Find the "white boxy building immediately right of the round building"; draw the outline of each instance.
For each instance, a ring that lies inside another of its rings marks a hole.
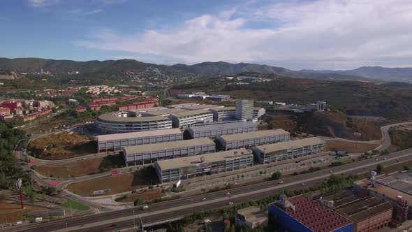
[[[189,110],[171,113],[169,118],[172,120],[172,126],[179,129],[184,129],[198,123],[213,122],[213,114],[208,110]]]

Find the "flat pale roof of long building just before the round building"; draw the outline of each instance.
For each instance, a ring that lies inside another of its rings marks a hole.
[[[128,138],[143,138],[151,136],[164,136],[174,133],[182,133],[177,128],[174,129],[164,129],[164,130],[154,130],[154,131],[141,131],[141,132],[130,132],[130,133],[113,133],[110,135],[101,135],[97,136],[97,140],[100,141],[110,141],[110,140],[119,140],[119,139],[128,139]]]

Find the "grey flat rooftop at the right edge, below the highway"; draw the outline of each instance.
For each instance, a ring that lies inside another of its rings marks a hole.
[[[375,180],[378,183],[391,187],[392,189],[397,189],[406,194],[412,195],[412,171],[379,175],[375,178]]]

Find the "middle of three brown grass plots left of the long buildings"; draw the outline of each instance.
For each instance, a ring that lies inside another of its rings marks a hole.
[[[68,162],[64,164],[47,164],[35,166],[35,170],[41,175],[70,178],[101,173],[110,168],[124,166],[123,157],[120,155],[108,157],[87,158],[78,161]]]

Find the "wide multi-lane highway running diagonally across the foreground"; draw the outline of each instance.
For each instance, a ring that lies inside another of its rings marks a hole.
[[[383,160],[384,157],[386,160]],[[399,159],[400,162],[412,159],[412,150],[404,150],[403,152],[394,152],[386,156],[381,156],[378,157],[378,161],[376,161],[375,158],[365,159],[351,164],[327,168],[314,173],[287,177],[281,179],[284,181],[283,184],[279,184],[279,180],[276,180],[230,189],[230,196],[226,196],[225,191],[219,191],[211,194],[203,194],[201,196],[192,196],[152,204],[149,205],[149,209],[147,210],[140,210],[139,208],[118,210],[92,215],[89,217],[60,220],[38,225],[32,224],[30,226],[19,226],[13,229],[8,228],[8,231],[66,231],[66,224],[68,228],[67,231],[101,232],[119,230],[133,226],[133,211],[135,214],[136,223],[138,222],[138,215],[142,217],[143,224],[162,222],[164,220],[190,215],[192,212],[196,211],[221,208],[228,205],[229,201],[235,204],[242,203],[249,200],[263,198],[265,196],[270,196],[272,194],[277,194],[283,189],[300,189],[302,188],[302,182],[305,183],[305,187],[309,187],[313,184],[323,182],[325,178],[329,177],[331,170],[332,173],[339,176],[365,173],[374,170],[377,164],[383,164],[384,166],[397,164],[399,163],[397,159]],[[203,197],[205,197],[206,200],[203,201]],[[110,225],[113,223],[117,225],[111,227]]]

